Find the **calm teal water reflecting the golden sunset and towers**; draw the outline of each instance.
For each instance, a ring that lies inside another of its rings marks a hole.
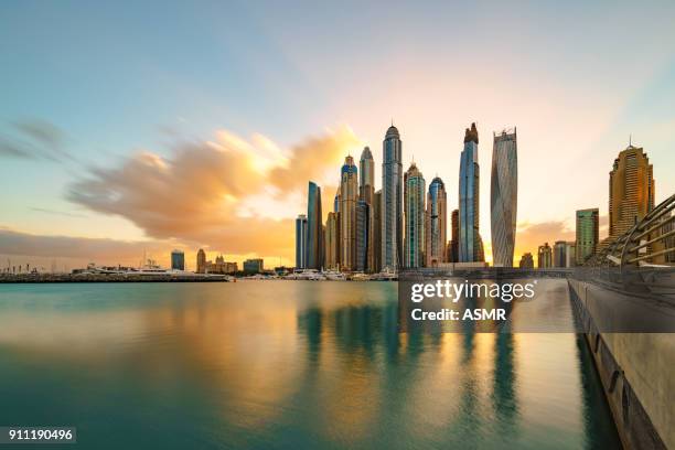
[[[0,286],[0,426],[76,426],[81,449],[620,447],[581,338],[396,323],[392,282]]]

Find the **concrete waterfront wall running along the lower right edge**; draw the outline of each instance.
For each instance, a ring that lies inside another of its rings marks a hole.
[[[675,449],[675,334],[600,332],[608,317],[630,319],[617,314],[635,298],[590,281],[568,282],[623,446]]]

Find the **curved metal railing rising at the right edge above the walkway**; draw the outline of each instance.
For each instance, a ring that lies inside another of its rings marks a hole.
[[[675,194],[589,258],[587,267],[674,267]]]

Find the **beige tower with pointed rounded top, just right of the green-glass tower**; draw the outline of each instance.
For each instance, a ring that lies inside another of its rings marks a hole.
[[[446,184],[436,176],[429,184],[425,213],[425,265],[437,267],[446,262],[448,234],[448,195]]]

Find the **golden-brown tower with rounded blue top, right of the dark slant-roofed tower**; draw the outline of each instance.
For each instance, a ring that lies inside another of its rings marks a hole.
[[[356,268],[356,202],[358,170],[354,158],[346,157],[340,172],[340,265],[343,270]]]

